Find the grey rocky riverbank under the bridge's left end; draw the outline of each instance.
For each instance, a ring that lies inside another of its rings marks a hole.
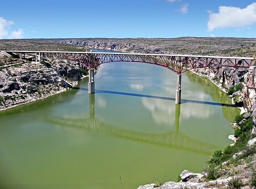
[[[18,67],[0,71],[0,111],[64,92],[77,85],[86,73],[72,61],[23,60]]]

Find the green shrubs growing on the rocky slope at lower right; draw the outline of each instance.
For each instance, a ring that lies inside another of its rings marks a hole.
[[[244,113],[243,113],[244,114]],[[243,114],[235,116],[235,122],[240,122],[243,119]],[[256,153],[256,146],[247,147],[248,140],[255,137],[251,136],[251,130],[253,128],[252,118],[249,117],[240,123],[239,127],[235,129],[235,137],[237,137],[234,146],[227,146],[224,151],[217,150],[207,161],[209,166],[204,168],[206,172],[205,178],[207,180],[215,180],[221,176],[225,176],[228,172],[228,176],[234,176],[240,174],[241,170],[225,171],[223,166],[235,167],[240,164],[244,164],[245,161],[250,163],[252,161],[252,155]],[[241,153],[242,152],[242,153]],[[237,154],[234,156],[234,154]],[[223,165],[223,162],[227,162]],[[252,168],[253,169],[253,168]],[[256,171],[253,169],[251,177],[251,185],[256,185]],[[243,186],[242,181],[239,178],[232,178],[228,182],[230,188],[240,188]]]

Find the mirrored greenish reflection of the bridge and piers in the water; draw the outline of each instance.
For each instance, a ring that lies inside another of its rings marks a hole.
[[[131,140],[136,142],[143,142],[147,144],[179,149],[199,154],[211,155],[213,151],[219,149],[218,146],[206,144],[196,139],[192,139],[182,133],[179,133],[180,124],[180,110],[181,105],[176,106],[176,130],[174,132],[152,134],[137,131],[130,131],[113,127],[112,125],[105,124],[100,119],[95,117],[95,94],[89,95],[90,97],[90,117],[88,118],[64,118],[64,117],[49,117],[48,121],[64,127],[71,127],[77,129],[84,129],[115,138]]]

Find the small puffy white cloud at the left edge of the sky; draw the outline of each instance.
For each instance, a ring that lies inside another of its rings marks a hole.
[[[13,21],[8,21],[4,19],[3,17],[0,17],[0,39],[3,38],[22,38],[23,37],[23,30],[18,29],[11,32],[9,35],[8,29],[11,25],[13,25]]]

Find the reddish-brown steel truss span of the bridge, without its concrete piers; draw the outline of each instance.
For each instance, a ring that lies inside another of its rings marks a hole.
[[[220,57],[220,56],[186,56],[161,54],[130,53],[63,53],[42,52],[41,58],[61,58],[80,62],[88,68],[96,68],[101,64],[116,61],[144,62],[165,67],[177,74],[196,68],[233,67],[248,68],[252,66],[252,58]]]

